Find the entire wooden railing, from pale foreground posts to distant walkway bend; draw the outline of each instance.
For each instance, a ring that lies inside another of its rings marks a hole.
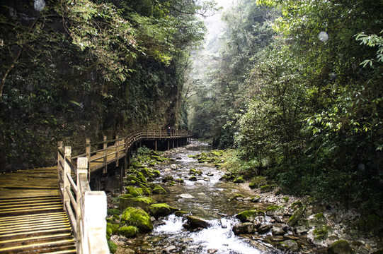
[[[60,141],[57,152],[58,185],[62,193],[64,210],[76,238],[77,253],[109,253],[106,234],[106,195],[103,191],[91,191],[88,181],[91,172],[103,168],[108,170],[108,164],[126,157],[128,151],[140,140],[161,140],[190,138],[187,131],[146,130],[135,131],[126,138],[118,138],[86,143],[81,149],[85,152],[72,157],[72,147],[65,146]],[[102,147],[102,148],[101,148]],[[75,180],[74,180],[75,179]]]

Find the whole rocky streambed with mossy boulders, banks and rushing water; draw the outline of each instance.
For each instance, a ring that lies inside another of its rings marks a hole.
[[[219,169],[219,151],[205,144],[164,152],[168,159],[152,157],[156,162],[132,165],[126,193],[109,193],[115,253],[382,251],[377,215],[283,195],[273,185],[250,188]]]

